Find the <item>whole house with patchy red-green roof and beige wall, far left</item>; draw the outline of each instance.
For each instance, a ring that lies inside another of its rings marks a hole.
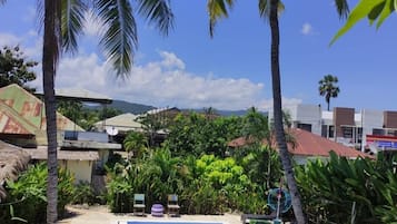
[[[79,91],[81,92],[81,91]],[[79,100],[77,91],[62,91],[57,98]],[[97,95],[96,95],[97,96]],[[83,91],[83,99],[89,100]],[[92,101],[101,100],[99,97]],[[106,101],[110,99],[106,98]],[[111,100],[110,100],[111,101]],[[22,147],[33,160],[47,160],[44,104],[18,85],[0,88],[0,139]],[[75,174],[76,182],[91,183],[98,168],[103,167],[110,150],[121,145],[108,142],[106,133],[85,132],[69,118],[57,113],[58,163]]]

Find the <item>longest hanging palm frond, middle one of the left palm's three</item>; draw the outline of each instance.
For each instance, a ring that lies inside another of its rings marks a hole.
[[[117,77],[125,78],[131,70],[133,52],[138,47],[131,4],[128,0],[97,0],[95,12],[107,29],[99,43],[112,62]]]

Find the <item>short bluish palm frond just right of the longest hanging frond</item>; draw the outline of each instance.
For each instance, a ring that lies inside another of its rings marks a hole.
[[[169,0],[139,0],[138,12],[155,23],[161,33],[168,35],[173,27],[173,13]]]

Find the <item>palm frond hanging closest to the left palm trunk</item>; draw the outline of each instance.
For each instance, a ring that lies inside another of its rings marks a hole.
[[[62,0],[61,31],[63,51],[75,53],[77,38],[82,32],[85,12],[88,7],[83,0]]]

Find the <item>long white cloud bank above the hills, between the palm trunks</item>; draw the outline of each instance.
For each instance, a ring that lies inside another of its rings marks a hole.
[[[264,85],[248,79],[201,77],[185,70],[183,61],[161,51],[161,60],[136,66],[128,79],[115,80],[108,65],[91,53],[61,60],[56,88],[85,88],[113,99],[180,108],[259,107]]]

